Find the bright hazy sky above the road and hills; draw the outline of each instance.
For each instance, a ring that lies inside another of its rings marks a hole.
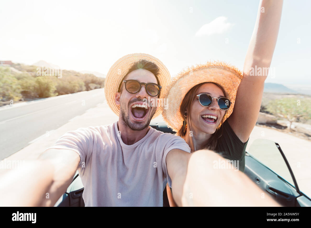
[[[243,70],[259,0],[2,1],[0,60],[44,60],[107,74],[130,53],[160,59],[172,76],[208,60]],[[285,0],[266,82],[311,88],[311,1]]]

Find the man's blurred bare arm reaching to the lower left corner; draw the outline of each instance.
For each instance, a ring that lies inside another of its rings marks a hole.
[[[0,206],[54,206],[75,174],[80,156],[72,150],[49,149],[38,159],[0,175]],[[21,192],[22,190],[22,192]]]

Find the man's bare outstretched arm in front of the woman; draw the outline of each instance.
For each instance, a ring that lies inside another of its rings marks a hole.
[[[178,206],[280,206],[244,173],[214,169],[214,161],[225,160],[213,151],[192,154],[174,149],[166,156],[172,194]]]

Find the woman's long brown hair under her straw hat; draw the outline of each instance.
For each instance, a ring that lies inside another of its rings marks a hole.
[[[189,130],[193,129],[191,126],[191,122],[190,122],[190,110],[191,110],[193,99],[197,95],[197,91],[199,90],[199,87],[203,84],[206,84],[206,83],[213,83],[213,84],[217,85],[222,90],[225,97],[228,97],[228,95],[226,94],[226,92],[222,88],[222,86],[218,85],[217,83],[214,83],[214,82],[203,82],[203,83],[200,83],[198,85],[193,86],[191,88],[191,90],[189,90],[188,93],[185,95],[185,97],[183,98],[183,101],[180,105],[180,114],[183,117],[183,120],[186,121],[187,128],[189,128]],[[185,115],[185,112],[187,113],[187,116]],[[225,114],[226,114],[226,112],[225,112]],[[221,120],[220,128],[219,129],[217,128],[215,133],[212,134],[212,136],[207,140],[207,142],[203,145],[203,147],[198,148],[198,150],[201,150],[201,149],[215,150],[216,149],[217,140],[218,140],[218,138],[220,138],[220,136],[223,133],[223,128],[222,128],[223,120],[224,120],[224,118],[222,118],[222,120]],[[187,131],[183,132],[183,126],[182,126],[181,129],[179,129],[179,131],[176,133],[176,135],[178,135],[182,138],[185,138],[186,133],[187,133]]]

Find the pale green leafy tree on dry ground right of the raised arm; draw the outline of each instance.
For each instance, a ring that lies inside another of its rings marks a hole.
[[[291,130],[292,122],[303,122],[311,119],[311,99],[282,98],[272,100],[267,104],[267,111],[275,116],[286,118]]]

